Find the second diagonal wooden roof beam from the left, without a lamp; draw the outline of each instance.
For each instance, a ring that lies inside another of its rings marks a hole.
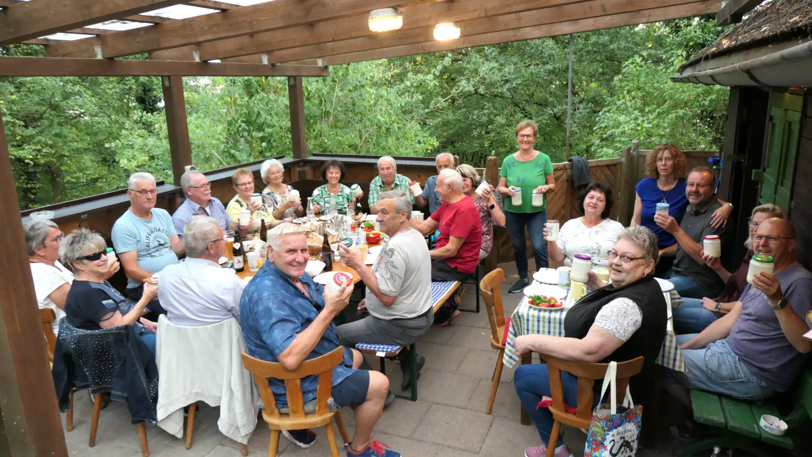
[[[143,1],[143,0],[142,0]],[[350,15],[366,15],[383,7],[436,2],[438,0],[275,0],[251,7],[234,8],[210,15],[175,20],[155,27],[136,28],[88,40],[49,46],[51,57],[96,57],[94,46],[102,46],[105,58],[187,46],[227,37],[240,37],[276,28],[312,24]]]

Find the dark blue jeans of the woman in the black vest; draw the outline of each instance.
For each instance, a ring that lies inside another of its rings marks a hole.
[[[578,404],[578,378],[568,372],[561,372],[561,384],[564,385],[564,404],[576,406]],[[542,401],[542,396],[551,397],[550,375],[547,372],[546,363],[520,365],[513,373],[513,385],[516,387],[516,394],[519,394],[521,406],[525,408],[533,425],[538,429],[542,442],[548,445],[553,429],[553,415],[547,408],[536,409],[538,402]],[[595,397],[593,407],[598,404],[597,395]],[[564,444],[564,439],[559,435],[555,447],[562,444]]]

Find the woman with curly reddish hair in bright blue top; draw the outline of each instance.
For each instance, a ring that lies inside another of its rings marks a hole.
[[[654,276],[667,278],[668,271],[674,261],[673,256],[663,256],[663,250],[676,244],[671,233],[665,231],[654,222],[654,212],[657,203],[668,203],[668,215],[682,221],[685,208],[688,207],[688,198],[685,196],[685,170],[686,160],[682,151],[672,143],[663,143],[654,147],[651,154],[646,157],[646,178],[643,178],[635,189],[634,215],[632,225],[642,225],[650,228],[657,235],[657,244],[660,249],[660,258],[654,269]],[[722,203],[711,219],[711,226],[724,227],[728,223],[728,215],[733,210],[730,203]]]

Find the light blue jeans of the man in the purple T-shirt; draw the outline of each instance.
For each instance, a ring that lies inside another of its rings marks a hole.
[[[677,335],[680,345],[696,334]],[[669,370],[664,382],[675,381],[688,389],[701,389],[743,400],[760,400],[775,395],[775,390],[749,371],[728,346],[728,340],[712,342],[702,349],[682,351],[687,372]]]

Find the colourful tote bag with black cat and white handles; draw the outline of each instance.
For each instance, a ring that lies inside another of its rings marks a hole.
[[[610,403],[599,403],[592,413],[584,457],[633,457],[637,454],[643,407],[634,405],[627,385],[623,404],[618,408],[616,377],[617,362],[610,362],[601,389],[603,402],[603,395],[611,384]]]

